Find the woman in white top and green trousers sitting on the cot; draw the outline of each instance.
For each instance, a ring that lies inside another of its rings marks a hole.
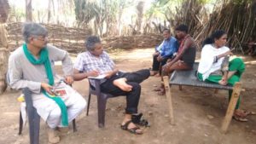
[[[213,32],[212,36],[205,40],[197,73],[201,81],[232,86],[240,81],[241,74],[245,71],[245,64],[240,58],[229,61],[232,52],[225,46],[226,42],[227,34],[224,31]],[[232,92],[233,90],[229,91],[229,99]],[[239,97],[233,118],[247,121],[246,117],[251,113],[239,109],[240,101]]]

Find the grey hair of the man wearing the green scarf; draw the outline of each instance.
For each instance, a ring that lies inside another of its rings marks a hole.
[[[22,36],[26,43],[29,43],[28,38],[32,36],[44,36],[48,35],[48,31],[44,26],[39,25],[38,23],[29,22],[23,24]]]

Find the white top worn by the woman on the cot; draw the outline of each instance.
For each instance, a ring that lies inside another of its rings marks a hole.
[[[201,60],[198,66],[198,72],[202,74],[203,80],[207,79],[212,72],[215,72],[221,68],[224,57],[213,63],[214,57],[224,54],[229,50],[230,49],[226,46],[217,49],[213,47],[212,44],[206,44],[203,47],[201,50]]]

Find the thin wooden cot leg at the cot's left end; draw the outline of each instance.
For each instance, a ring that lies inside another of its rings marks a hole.
[[[166,89],[166,99],[168,102],[168,107],[169,107],[169,113],[170,113],[170,120],[171,120],[171,124],[174,124],[174,118],[173,118],[173,108],[172,108],[172,93],[171,93],[171,89],[170,89],[170,85],[169,85],[169,77],[168,76],[164,76],[164,85],[165,85],[165,89]]]

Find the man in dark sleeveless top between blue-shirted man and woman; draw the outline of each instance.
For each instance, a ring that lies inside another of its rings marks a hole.
[[[188,26],[177,26],[176,34],[180,40],[180,46],[177,50],[177,56],[163,66],[162,76],[170,75],[174,70],[191,70],[195,62],[196,45],[195,41],[188,34]],[[161,84],[159,95],[165,95],[164,84]]]

